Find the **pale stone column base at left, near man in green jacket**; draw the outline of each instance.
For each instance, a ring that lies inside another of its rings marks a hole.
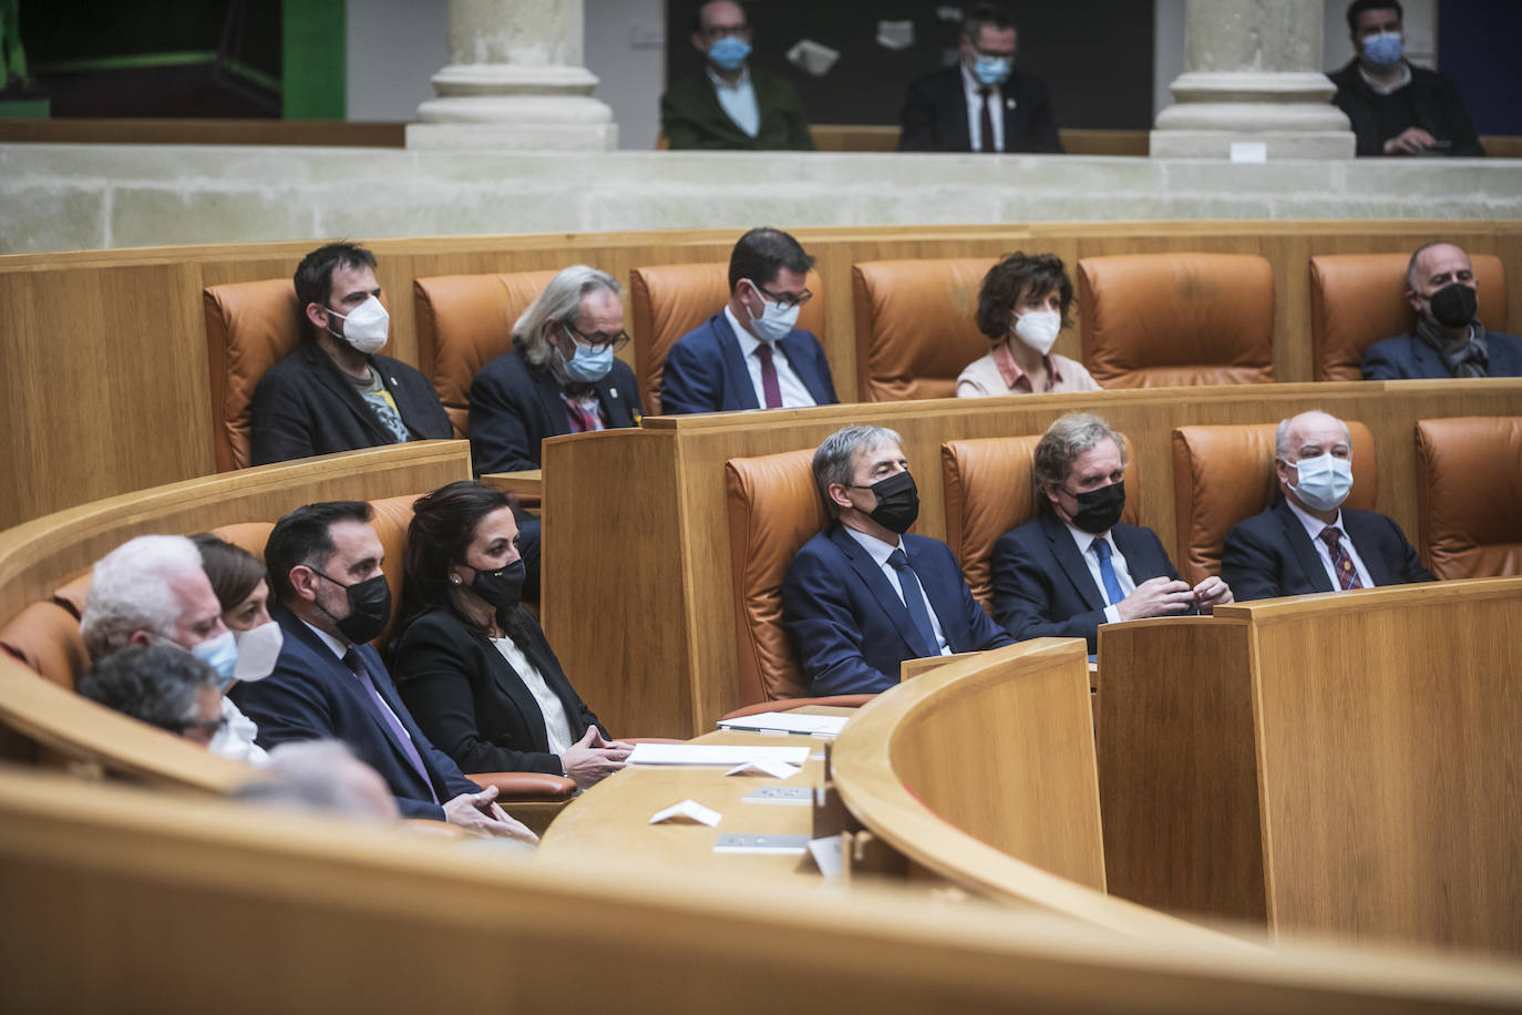
[[[581,0],[449,0],[449,65],[408,148],[610,151],[613,111],[581,65]]]

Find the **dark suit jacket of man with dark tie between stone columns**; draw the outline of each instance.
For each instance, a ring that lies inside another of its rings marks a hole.
[[[1056,114],[1052,111],[1046,82],[1017,70],[1011,72],[1000,91],[1005,96],[1005,151],[1062,154],[1062,138],[1056,132]],[[898,122],[901,152],[973,151],[962,64],[910,82]]]

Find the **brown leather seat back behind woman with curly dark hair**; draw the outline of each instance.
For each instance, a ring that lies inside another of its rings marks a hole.
[[[857,388],[863,402],[950,399],[989,350],[977,291],[992,257],[869,260],[851,268]]]

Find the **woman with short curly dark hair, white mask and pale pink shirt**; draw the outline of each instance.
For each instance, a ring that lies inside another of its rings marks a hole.
[[[956,379],[957,397],[1099,391],[1084,364],[1052,352],[1071,306],[1073,280],[1056,254],[1017,251],[989,268],[977,294],[977,330],[994,348]]]

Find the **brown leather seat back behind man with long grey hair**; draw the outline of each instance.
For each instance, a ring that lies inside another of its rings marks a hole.
[[[434,382],[455,437],[470,437],[470,382],[513,348],[513,324],[554,277],[521,271],[412,280],[419,368]]]

